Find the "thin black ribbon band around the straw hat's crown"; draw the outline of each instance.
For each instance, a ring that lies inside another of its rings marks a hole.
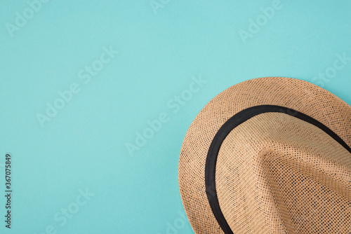
[[[244,109],[243,111],[239,111],[232,118],[230,118],[227,122],[225,122],[220,130],[216,133],[213,141],[211,142],[211,146],[208,149],[206,165],[205,165],[205,185],[206,185],[206,195],[208,202],[211,206],[212,212],[218,221],[218,224],[222,228],[225,234],[233,234],[230,226],[228,225],[225,217],[223,216],[222,211],[220,210],[220,205],[218,202],[217,191],[216,191],[216,162],[218,157],[218,152],[220,150],[220,146],[222,145],[225,137],[238,125],[244,123],[249,120],[253,116],[257,116],[260,113],[267,112],[279,112],[286,113],[290,116],[300,118],[300,120],[306,121],[307,123],[311,123],[312,125],[320,128],[324,132],[326,132],[329,136],[333,137],[339,144],[341,144],[347,151],[351,153],[350,146],[348,146],[343,139],[341,139],[335,132],[330,130],[326,125],[320,123],[314,118],[307,116],[305,113],[301,113],[299,111],[295,111],[293,109],[286,108],[284,106],[274,106],[274,105],[260,105],[260,106],[252,106],[248,109]]]

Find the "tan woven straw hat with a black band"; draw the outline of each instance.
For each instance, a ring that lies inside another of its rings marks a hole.
[[[190,125],[179,187],[195,233],[351,233],[351,107],[293,78],[244,81]]]

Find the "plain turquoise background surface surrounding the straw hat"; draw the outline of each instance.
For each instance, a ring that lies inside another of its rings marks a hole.
[[[246,43],[239,30],[249,32],[273,1],[155,2],[51,0],[30,15],[27,1],[0,1],[0,233],[193,233],[182,216],[178,159],[187,128],[215,95],[247,79],[287,76],[351,104],[350,59],[332,69],[338,55],[351,57],[351,1],[282,0]],[[23,11],[29,19],[18,27]],[[119,53],[84,83],[81,69],[110,46]],[[206,83],[170,108],[194,77]],[[72,83],[79,92],[42,127],[37,114]],[[129,153],[126,144],[160,113],[166,123]],[[86,188],[94,195],[77,211]],[[74,214],[63,224],[67,208]]]

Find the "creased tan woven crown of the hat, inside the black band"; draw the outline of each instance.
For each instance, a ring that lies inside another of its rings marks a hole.
[[[233,233],[345,233],[351,153],[311,123],[261,113],[225,137],[216,193]]]

